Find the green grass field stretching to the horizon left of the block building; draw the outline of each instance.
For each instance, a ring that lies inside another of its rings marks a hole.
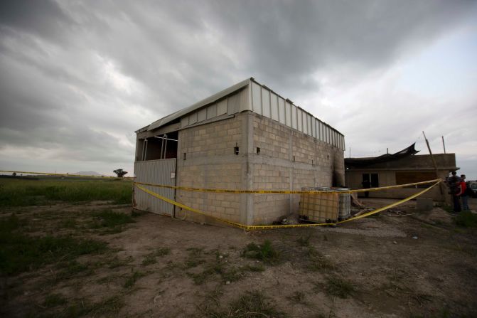
[[[132,181],[45,181],[0,179],[0,206],[38,206],[64,201],[132,202]]]

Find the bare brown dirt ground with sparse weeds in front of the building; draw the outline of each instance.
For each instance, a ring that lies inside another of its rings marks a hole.
[[[94,211],[131,208],[4,208],[1,217],[30,221],[30,235],[93,238],[109,250],[80,256],[82,270],[68,275],[56,264],[4,275],[0,316],[477,317],[476,228],[456,226],[441,208],[414,206],[336,228],[259,232],[145,213],[109,233],[83,225]],[[271,258],[243,253],[266,240]]]

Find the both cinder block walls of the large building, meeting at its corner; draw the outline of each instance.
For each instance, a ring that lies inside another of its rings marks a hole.
[[[336,185],[344,184],[341,149],[254,112],[183,129],[178,140],[178,186],[297,190],[332,186],[333,176]],[[176,198],[210,216],[247,225],[269,224],[299,208],[299,195],[293,194],[177,191]],[[176,208],[176,216],[183,213]],[[188,218],[211,221],[193,213]]]

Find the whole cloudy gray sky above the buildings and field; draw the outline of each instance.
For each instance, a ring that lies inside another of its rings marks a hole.
[[[0,1],[0,169],[132,175],[134,131],[253,77],[352,157],[477,179],[477,1]]]

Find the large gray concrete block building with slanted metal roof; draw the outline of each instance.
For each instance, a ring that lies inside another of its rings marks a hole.
[[[134,175],[137,182],[201,189],[341,186],[344,149],[338,130],[249,78],[137,130]],[[299,208],[296,194],[146,188],[245,225],[270,224]],[[134,208],[178,218],[188,213],[137,187]]]

